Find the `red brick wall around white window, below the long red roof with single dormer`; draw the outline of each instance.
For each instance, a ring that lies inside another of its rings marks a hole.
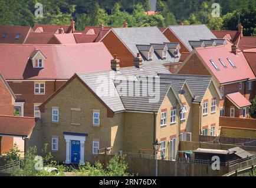
[[[9,86],[17,95],[17,99],[25,99],[24,103],[24,116],[34,117],[34,103],[42,103],[46,100],[52,93],[55,92],[61,85],[65,83],[64,81],[49,81],[45,82],[45,95],[35,95],[34,94],[34,82],[22,82],[14,83],[8,82]]]

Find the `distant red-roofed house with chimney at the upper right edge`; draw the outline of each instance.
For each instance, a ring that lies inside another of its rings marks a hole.
[[[240,50],[256,48],[256,36],[244,36],[242,30],[243,26],[239,24],[237,31],[212,31],[212,33],[218,39],[226,39],[237,45]]]

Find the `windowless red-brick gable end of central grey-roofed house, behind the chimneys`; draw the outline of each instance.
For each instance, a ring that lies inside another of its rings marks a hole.
[[[120,59],[120,67],[134,66],[133,54],[112,31],[110,31],[105,36],[102,42],[107,47],[112,56],[116,54],[117,59]]]

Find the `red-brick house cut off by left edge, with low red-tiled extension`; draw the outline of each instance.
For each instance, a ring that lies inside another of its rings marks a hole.
[[[0,73],[0,155],[14,146],[14,137],[29,137],[35,119],[15,117],[15,95]]]

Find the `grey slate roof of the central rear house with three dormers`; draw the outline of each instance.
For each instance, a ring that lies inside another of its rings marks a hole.
[[[138,49],[136,45],[150,45],[150,43],[166,43],[169,40],[156,27],[133,27],[133,28],[112,28],[118,38],[127,46],[127,48],[136,56]],[[145,56],[140,54],[144,62],[147,62]],[[179,62],[179,58],[174,58],[169,51],[166,53],[166,59],[160,58],[157,53],[152,54],[152,61],[160,63]]]

